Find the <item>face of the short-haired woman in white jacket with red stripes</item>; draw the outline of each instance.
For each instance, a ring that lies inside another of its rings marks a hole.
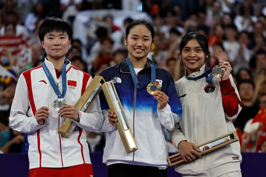
[[[68,34],[52,31],[44,35],[44,40],[41,41],[43,48],[46,51],[48,60],[60,60],[65,58],[70,47],[70,42]]]

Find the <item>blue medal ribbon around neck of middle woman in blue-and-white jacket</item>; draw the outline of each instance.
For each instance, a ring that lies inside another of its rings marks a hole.
[[[152,63],[150,63],[149,60],[147,60],[147,62],[150,64],[150,67],[151,67],[151,80],[150,80],[150,82],[155,82],[156,81],[155,66]],[[128,69],[129,69],[129,72],[130,72],[131,77],[133,79],[134,85],[138,89],[140,89],[139,82],[138,82],[134,67],[133,67],[133,65],[132,65],[132,63],[131,63],[131,61],[129,60],[128,57],[126,58],[126,64],[128,65]]]

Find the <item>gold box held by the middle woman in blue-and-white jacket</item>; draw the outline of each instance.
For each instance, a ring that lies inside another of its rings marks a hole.
[[[116,127],[123,142],[126,153],[132,153],[138,149],[132,135],[124,110],[119,100],[113,81],[105,82],[102,85],[103,93],[106,97],[109,108],[116,114]]]

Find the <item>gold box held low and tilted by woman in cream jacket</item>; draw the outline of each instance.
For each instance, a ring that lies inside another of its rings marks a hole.
[[[239,137],[236,132],[227,133],[223,136],[220,136],[218,138],[215,138],[213,140],[207,141],[205,143],[202,143],[198,145],[198,148],[201,150],[200,154],[206,154],[211,151],[214,151],[216,149],[222,148],[228,144],[231,144],[233,142],[239,141]],[[167,161],[170,166],[178,165],[180,163],[184,162],[184,159],[180,155],[180,153],[177,153],[175,155],[172,155],[167,158]]]

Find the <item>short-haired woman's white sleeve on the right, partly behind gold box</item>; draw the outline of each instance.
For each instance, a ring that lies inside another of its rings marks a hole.
[[[88,87],[91,81],[92,77],[89,78],[86,88]],[[80,122],[76,122],[72,119],[72,122],[74,122],[74,124],[76,124],[78,127],[89,132],[101,130],[103,126],[103,114],[101,113],[100,99],[98,95],[91,103],[91,106],[88,109],[88,111],[87,112],[79,111],[79,114],[80,114]]]

